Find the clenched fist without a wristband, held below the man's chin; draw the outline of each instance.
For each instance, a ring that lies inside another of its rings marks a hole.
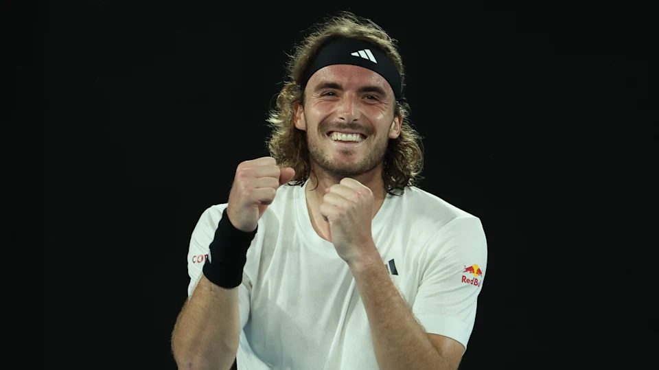
[[[358,259],[373,245],[373,192],[353,178],[344,178],[326,190],[321,214],[329,222],[329,235],[345,262]]]

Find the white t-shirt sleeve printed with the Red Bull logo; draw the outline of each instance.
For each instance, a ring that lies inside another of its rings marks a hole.
[[[428,244],[412,310],[431,334],[448,336],[465,349],[476,321],[476,303],[487,268],[481,220],[456,218]]]

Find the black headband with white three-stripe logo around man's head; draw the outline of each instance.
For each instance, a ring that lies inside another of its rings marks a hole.
[[[357,38],[337,38],[321,47],[302,80],[302,89],[311,76],[328,65],[357,65],[371,69],[389,82],[396,100],[402,95],[402,82],[396,65],[380,47]]]

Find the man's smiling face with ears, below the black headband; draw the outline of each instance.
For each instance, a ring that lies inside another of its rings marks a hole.
[[[353,177],[378,167],[400,135],[395,95],[378,73],[354,65],[320,69],[296,105],[295,127],[307,132],[310,159],[329,175]]]

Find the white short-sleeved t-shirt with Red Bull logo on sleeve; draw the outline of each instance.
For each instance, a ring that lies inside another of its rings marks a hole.
[[[259,220],[238,287],[238,369],[378,369],[355,279],[334,245],[314,231],[305,201],[303,187],[283,185]],[[206,209],[192,232],[189,296],[225,207]],[[402,196],[387,194],[372,233],[421,326],[466,348],[487,268],[481,220],[406,187]]]

